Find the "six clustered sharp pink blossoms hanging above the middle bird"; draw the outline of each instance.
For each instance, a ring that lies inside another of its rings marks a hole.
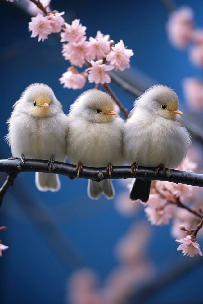
[[[63,87],[81,89],[84,87],[86,78],[90,83],[110,83],[109,71],[121,70],[130,67],[130,57],[133,51],[125,47],[123,40],[114,44],[109,35],[97,31],[95,38],[90,37],[87,41],[86,27],[79,19],[72,21],[71,25],[64,24],[61,32],[62,54],[65,60],[72,65],[59,79]],[[79,73],[76,67],[88,68]]]

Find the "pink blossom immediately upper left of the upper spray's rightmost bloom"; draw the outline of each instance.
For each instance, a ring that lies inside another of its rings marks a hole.
[[[100,31],[97,32],[95,38],[89,38],[89,56],[91,59],[102,59],[106,57],[106,53],[110,50],[109,35],[103,35]]]

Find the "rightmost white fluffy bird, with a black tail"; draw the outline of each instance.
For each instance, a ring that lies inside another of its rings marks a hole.
[[[186,157],[191,145],[178,110],[178,96],[169,87],[155,85],[135,102],[124,125],[124,160],[136,167],[176,168]],[[132,200],[147,202],[151,181],[136,179],[130,193]]]

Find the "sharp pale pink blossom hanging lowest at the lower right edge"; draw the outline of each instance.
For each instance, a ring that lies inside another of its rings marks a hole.
[[[194,257],[195,255],[202,256],[202,252],[200,250],[200,245],[197,243],[197,241],[194,241],[191,237],[191,235],[187,235],[186,238],[183,239],[176,239],[175,240],[178,243],[182,243],[178,246],[177,250],[182,250],[183,255]]]

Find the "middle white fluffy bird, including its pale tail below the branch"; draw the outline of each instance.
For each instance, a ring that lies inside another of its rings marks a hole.
[[[83,92],[70,106],[67,156],[77,164],[78,176],[82,166],[106,167],[111,176],[112,165],[122,165],[122,134],[124,121],[113,111],[113,100],[100,90]],[[88,196],[98,199],[114,196],[111,180],[88,181]]]

